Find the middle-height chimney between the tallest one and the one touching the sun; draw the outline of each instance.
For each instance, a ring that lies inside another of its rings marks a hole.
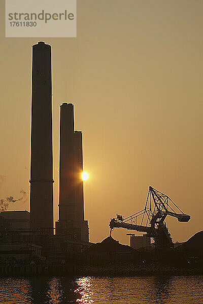
[[[59,222],[60,230],[74,239],[75,174],[74,174],[74,106],[60,106],[60,165],[59,165]],[[61,230],[62,229],[62,230]]]

